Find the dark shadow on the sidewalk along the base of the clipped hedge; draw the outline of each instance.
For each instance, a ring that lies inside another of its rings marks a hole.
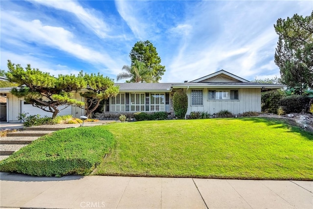
[[[80,180],[84,176],[79,175],[70,175],[62,177],[38,177],[38,176],[29,176],[20,173],[0,173],[1,181],[11,181],[11,182],[58,182],[58,181],[71,181],[71,180]]]

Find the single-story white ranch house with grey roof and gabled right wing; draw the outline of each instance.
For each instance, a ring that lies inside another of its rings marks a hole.
[[[207,111],[210,114],[228,110],[232,114],[248,111],[261,112],[261,92],[281,89],[284,85],[249,82],[234,74],[220,70],[199,79],[184,83],[116,83],[120,90],[116,97],[107,99],[105,112],[156,112],[174,114],[173,94],[184,91],[188,96],[187,115],[193,111]],[[19,113],[49,115],[39,108],[26,104],[10,93],[10,88],[2,88],[0,93],[7,96],[8,121],[16,121]],[[75,94],[75,99],[84,98]],[[44,114],[39,113],[40,111]],[[79,107],[69,107],[59,115],[84,114]],[[51,114],[50,114],[51,115]]]

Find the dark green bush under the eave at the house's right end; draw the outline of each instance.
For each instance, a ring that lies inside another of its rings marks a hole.
[[[261,93],[261,111],[262,113],[277,114],[279,101],[285,96],[283,90],[272,90]]]

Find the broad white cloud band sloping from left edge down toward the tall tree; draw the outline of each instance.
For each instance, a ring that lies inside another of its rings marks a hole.
[[[84,46],[74,34],[63,27],[44,25],[40,20],[25,21],[2,10],[1,30],[11,39],[57,48],[92,65],[106,67],[111,73],[116,73],[121,68],[118,58],[113,59],[105,51]]]

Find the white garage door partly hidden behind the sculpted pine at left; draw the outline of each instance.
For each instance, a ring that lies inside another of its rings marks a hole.
[[[64,108],[64,107],[65,107],[64,105],[60,106],[59,110]],[[41,117],[44,117],[44,116],[51,117],[52,116],[52,113],[45,112],[45,111],[43,111],[42,109],[40,109],[38,107],[34,107],[31,104],[27,104],[25,101],[22,101],[22,113],[23,112],[29,113],[29,115],[37,115],[37,114],[39,114]],[[72,108],[71,108],[71,106],[69,106],[66,109],[62,110],[58,114],[58,116],[65,116],[65,115],[72,115]]]

